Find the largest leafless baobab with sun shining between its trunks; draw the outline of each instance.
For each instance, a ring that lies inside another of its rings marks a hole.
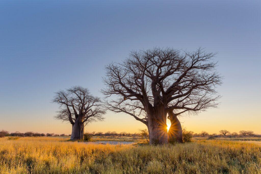
[[[171,48],[131,51],[123,62],[105,66],[102,92],[107,98],[116,96],[107,99],[106,106],[144,123],[150,144],[168,143],[168,116],[169,137],[182,142],[177,116],[197,114],[218,104],[216,85],[222,77],[215,71],[215,55],[201,48],[193,52]]]

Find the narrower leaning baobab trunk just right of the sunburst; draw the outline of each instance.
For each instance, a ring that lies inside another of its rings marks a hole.
[[[182,143],[182,127],[179,119],[177,118],[177,115],[175,115],[171,111],[169,112],[169,119],[171,122],[169,132],[168,132],[169,142],[177,141],[179,143]]]

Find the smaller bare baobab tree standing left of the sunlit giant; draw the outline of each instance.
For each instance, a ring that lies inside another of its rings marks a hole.
[[[60,105],[55,116],[72,124],[71,140],[83,138],[84,126],[93,121],[102,121],[105,110],[99,97],[90,94],[87,88],[73,86],[55,93],[52,102]]]

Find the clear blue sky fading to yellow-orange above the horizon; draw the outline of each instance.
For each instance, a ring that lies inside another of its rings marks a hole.
[[[187,130],[261,134],[261,1],[0,2],[0,129],[70,134],[54,120],[54,92],[81,85],[96,95],[104,65],[130,50],[218,51],[225,76],[218,109],[180,118]],[[145,126],[108,112],[87,131],[138,132]]]

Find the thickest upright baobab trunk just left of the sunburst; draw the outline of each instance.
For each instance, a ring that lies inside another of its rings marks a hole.
[[[148,115],[150,144],[168,143],[167,118],[163,106],[153,108]]]

